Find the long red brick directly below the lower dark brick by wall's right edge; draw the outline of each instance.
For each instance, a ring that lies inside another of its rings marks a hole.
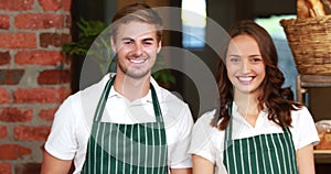
[[[66,91],[63,88],[19,88],[13,94],[15,104],[58,104],[63,101]]]

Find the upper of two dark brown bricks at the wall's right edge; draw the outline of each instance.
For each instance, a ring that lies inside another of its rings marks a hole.
[[[71,42],[70,34],[42,33],[40,34],[40,45],[42,47],[55,46],[62,47],[63,44]]]

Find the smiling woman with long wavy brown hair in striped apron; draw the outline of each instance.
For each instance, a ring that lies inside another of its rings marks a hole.
[[[229,35],[218,63],[220,109],[193,129],[193,173],[313,174],[314,122],[282,88],[270,35],[253,21],[236,23]]]

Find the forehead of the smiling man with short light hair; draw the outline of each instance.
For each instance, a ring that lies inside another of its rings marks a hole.
[[[157,39],[157,28],[146,22],[132,21],[118,26],[117,39]]]

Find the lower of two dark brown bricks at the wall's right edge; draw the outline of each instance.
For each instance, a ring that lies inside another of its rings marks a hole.
[[[67,69],[43,70],[38,76],[39,85],[68,84],[71,81],[71,72]]]

